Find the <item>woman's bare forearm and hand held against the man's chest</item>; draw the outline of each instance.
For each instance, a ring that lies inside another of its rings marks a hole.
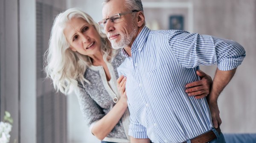
[[[121,97],[116,105],[111,109],[108,114],[106,114],[103,118],[97,121],[92,128],[92,133],[99,140],[103,140],[111,130],[116,126],[119,120],[122,118],[125,110],[127,109],[127,96],[125,91],[125,83],[126,78],[124,76],[120,76],[117,79],[117,84],[119,85],[119,92],[121,93]]]

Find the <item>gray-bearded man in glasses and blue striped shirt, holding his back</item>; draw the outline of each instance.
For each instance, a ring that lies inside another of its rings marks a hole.
[[[132,143],[225,143],[217,98],[245,57],[237,42],[186,31],[151,31],[141,0],[105,0],[104,26],[113,48],[126,56],[118,71],[127,77]],[[188,96],[199,65],[218,68],[207,98]],[[209,105],[209,106],[208,106]]]

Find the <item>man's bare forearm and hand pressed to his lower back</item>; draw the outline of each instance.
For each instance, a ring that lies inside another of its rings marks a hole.
[[[207,96],[207,101],[209,104],[209,109],[212,115],[212,123],[215,128],[221,125],[221,118],[220,112],[218,109],[217,99],[220,95],[221,91],[226,87],[226,85],[230,82],[233,78],[234,74],[236,73],[236,68],[233,70],[219,70],[217,68],[213,82],[212,82],[212,89],[210,94]]]

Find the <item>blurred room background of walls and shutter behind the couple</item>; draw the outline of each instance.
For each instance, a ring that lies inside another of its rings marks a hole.
[[[256,0],[142,0],[151,29],[183,29],[239,42],[246,58],[218,104],[224,133],[256,133]],[[76,95],[53,90],[43,72],[54,17],[80,7],[98,22],[102,0],[0,0],[0,119],[14,120],[17,143],[100,143]],[[216,66],[201,67],[214,76]]]

